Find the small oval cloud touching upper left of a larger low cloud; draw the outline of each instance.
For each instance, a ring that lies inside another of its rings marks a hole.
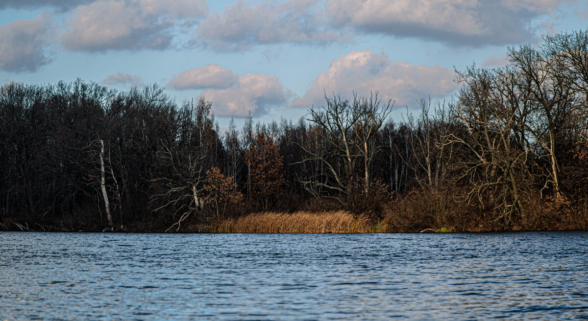
[[[208,65],[179,73],[169,80],[173,89],[225,89],[233,86],[239,77],[232,71],[217,65]]]

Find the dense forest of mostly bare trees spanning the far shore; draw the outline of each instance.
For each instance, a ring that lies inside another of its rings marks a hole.
[[[259,212],[343,211],[374,231],[588,228],[588,33],[456,72],[402,121],[382,93],[298,121],[233,121],[158,85],[0,89],[0,229],[210,231]]]

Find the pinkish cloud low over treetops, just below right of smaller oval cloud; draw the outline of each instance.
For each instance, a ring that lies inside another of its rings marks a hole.
[[[208,89],[202,93],[212,102],[218,116],[246,117],[249,110],[254,116],[262,116],[272,106],[288,103],[292,92],[285,89],[276,76],[248,73],[225,89]]]

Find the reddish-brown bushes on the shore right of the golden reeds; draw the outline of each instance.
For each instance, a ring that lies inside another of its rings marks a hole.
[[[383,232],[420,232],[426,228],[463,232],[488,231],[566,231],[588,228],[588,202],[573,204],[565,197],[531,195],[523,200],[520,219],[506,222],[496,210],[499,200],[459,201],[463,190],[422,189],[385,205],[380,222]]]

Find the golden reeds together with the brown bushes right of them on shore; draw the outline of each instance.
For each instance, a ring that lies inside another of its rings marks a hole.
[[[348,232],[495,232],[588,229],[588,202],[565,198],[524,199],[525,211],[505,214],[491,200],[460,201],[459,190],[424,189],[380,204],[379,211],[345,210],[262,212],[223,219],[212,232],[348,233]]]

